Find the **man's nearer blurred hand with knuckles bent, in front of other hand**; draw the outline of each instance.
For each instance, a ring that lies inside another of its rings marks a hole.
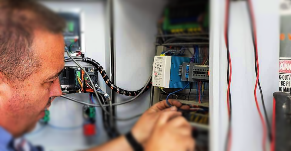
[[[194,151],[191,126],[177,111],[163,112],[145,145],[145,151]]]

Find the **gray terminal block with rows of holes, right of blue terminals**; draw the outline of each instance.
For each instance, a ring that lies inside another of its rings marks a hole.
[[[208,72],[208,65],[197,65],[197,63],[190,63],[189,81],[194,82],[196,80],[209,80]]]

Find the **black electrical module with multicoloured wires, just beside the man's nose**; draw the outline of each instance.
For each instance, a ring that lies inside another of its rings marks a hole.
[[[60,85],[63,93],[93,92],[93,86],[98,88],[98,70],[94,66],[83,66],[90,75],[94,85],[78,66],[65,66],[59,75]]]

